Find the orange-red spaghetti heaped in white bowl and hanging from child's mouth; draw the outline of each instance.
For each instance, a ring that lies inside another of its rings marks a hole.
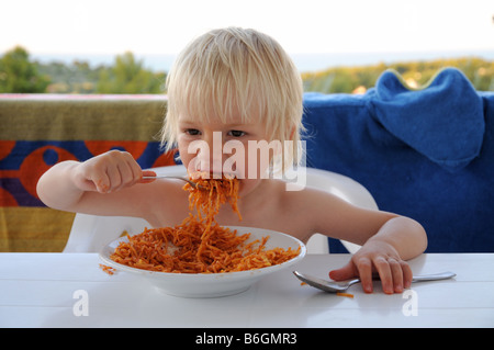
[[[293,259],[296,250],[266,249],[263,237],[246,242],[250,234],[237,235],[215,221],[220,207],[229,203],[238,214],[237,179],[193,179],[187,183],[189,216],[175,227],[146,228],[128,241],[121,242],[111,259],[115,262],[150,271],[171,273],[222,273],[247,271],[279,264]]]

